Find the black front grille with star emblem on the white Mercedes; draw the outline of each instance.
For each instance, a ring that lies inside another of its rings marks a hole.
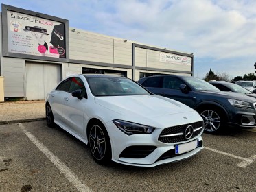
[[[192,125],[194,129],[193,135],[190,138],[193,139],[194,137],[198,136],[198,134],[200,134],[200,132],[202,131],[203,121],[165,128],[159,136],[159,141],[163,143],[178,143],[181,141],[187,141],[187,139],[184,136],[184,132],[188,125]]]

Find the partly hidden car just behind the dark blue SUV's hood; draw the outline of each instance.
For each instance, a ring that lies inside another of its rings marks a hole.
[[[243,88],[240,85],[233,84],[230,82],[225,82],[225,81],[214,81],[214,82],[209,82],[213,86],[216,86],[220,91],[231,91],[231,92],[236,92],[236,93],[242,93],[245,95],[248,95],[250,97],[256,98],[256,94],[252,93],[251,91],[248,91],[248,89]]]

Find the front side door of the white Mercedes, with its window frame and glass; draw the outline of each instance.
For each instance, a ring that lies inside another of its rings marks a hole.
[[[86,108],[86,88],[84,82],[79,77],[71,77],[71,84],[69,93],[65,95],[63,117],[65,117],[65,123],[70,130],[83,137],[84,129],[84,109]],[[82,99],[73,97],[72,92],[81,89]]]

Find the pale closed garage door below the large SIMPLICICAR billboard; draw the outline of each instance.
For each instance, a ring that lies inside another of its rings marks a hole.
[[[60,82],[60,65],[26,64],[27,100],[45,99]]]

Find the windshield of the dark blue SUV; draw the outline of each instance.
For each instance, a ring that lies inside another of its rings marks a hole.
[[[196,77],[183,77],[196,91],[220,91],[218,88]]]

